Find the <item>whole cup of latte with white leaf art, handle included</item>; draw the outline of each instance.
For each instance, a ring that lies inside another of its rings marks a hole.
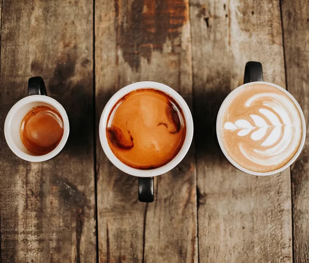
[[[216,134],[223,154],[237,169],[273,175],[288,168],[303,149],[306,124],[295,98],[263,81],[260,62],[247,62],[244,84],[223,101]]]

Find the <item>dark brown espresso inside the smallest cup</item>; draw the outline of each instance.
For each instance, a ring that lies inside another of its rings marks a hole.
[[[20,124],[20,138],[33,155],[51,152],[61,141],[63,120],[59,112],[48,106],[32,108]]]

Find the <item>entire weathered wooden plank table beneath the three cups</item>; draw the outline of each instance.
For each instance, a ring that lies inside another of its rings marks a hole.
[[[212,125],[247,61],[309,116],[307,0],[2,0],[1,262],[309,262],[309,141],[274,176],[249,176],[218,150]],[[3,124],[31,76],[66,109],[61,155],[29,163]],[[105,103],[140,80],[192,110],[194,142],[155,178],[155,202],[99,143]]]

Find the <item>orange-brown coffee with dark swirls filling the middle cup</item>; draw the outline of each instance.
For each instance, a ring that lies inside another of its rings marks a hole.
[[[144,88],[122,97],[107,121],[108,144],[121,162],[154,169],[171,161],[186,134],[182,110],[166,93]]]

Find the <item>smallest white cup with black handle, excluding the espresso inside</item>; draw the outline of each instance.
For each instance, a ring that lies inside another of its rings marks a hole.
[[[44,155],[33,155],[23,145],[20,138],[20,124],[23,117],[33,107],[36,106],[48,106],[56,109],[63,120],[63,135],[59,144],[47,154]],[[15,153],[19,158],[29,162],[42,162],[52,159],[60,153],[62,148],[65,146],[66,141],[69,137],[69,119],[65,109],[62,105],[53,98],[47,96],[45,84],[43,78],[32,77],[28,80],[28,96],[16,102],[10,109],[6,116],[4,123],[4,135],[8,146],[11,151]]]

